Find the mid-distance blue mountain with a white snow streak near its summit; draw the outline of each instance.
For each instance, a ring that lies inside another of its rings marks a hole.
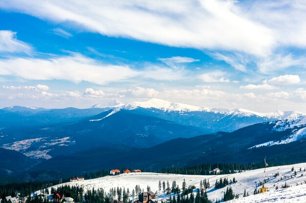
[[[15,149],[33,158],[49,159],[59,154],[109,145],[147,148],[177,137],[194,137],[204,130],[171,121],[110,110],[71,123],[0,130],[3,148]]]

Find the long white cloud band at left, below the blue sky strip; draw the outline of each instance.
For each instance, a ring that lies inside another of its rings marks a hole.
[[[28,80],[88,81],[106,84],[139,75],[128,66],[104,65],[82,55],[51,59],[0,59],[0,75],[12,75]]]

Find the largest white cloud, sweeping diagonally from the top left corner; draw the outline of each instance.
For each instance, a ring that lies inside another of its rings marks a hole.
[[[265,55],[274,44],[273,32],[246,18],[234,1],[2,0],[0,7],[54,22],[73,22],[106,36],[175,47]]]

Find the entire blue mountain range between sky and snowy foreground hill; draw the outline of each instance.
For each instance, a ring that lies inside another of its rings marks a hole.
[[[11,154],[7,157],[17,153],[31,161],[20,170],[4,165],[6,175],[114,166],[158,169],[256,161],[305,140],[306,114],[210,109],[151,99],[89,109],[8,107],[0,110],[0,127],[0,146]]]

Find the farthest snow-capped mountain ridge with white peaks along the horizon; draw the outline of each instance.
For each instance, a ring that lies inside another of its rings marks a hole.
[[[94,108],[102,106],[94,106]],[[109,107],[111,108],[111,107]],[[150,99],[146,102],[131,102],[126,105],[117,104],[113,109],[125,109],[133,113],[153,116],[181,125],[191,125],[205,129],[206,132],[231,132],[246,126],[266,121],[297,118],[306,115],[297,111],[276,111],[259,113],[244,109],[226,110],[197,107],[187,104]]]

